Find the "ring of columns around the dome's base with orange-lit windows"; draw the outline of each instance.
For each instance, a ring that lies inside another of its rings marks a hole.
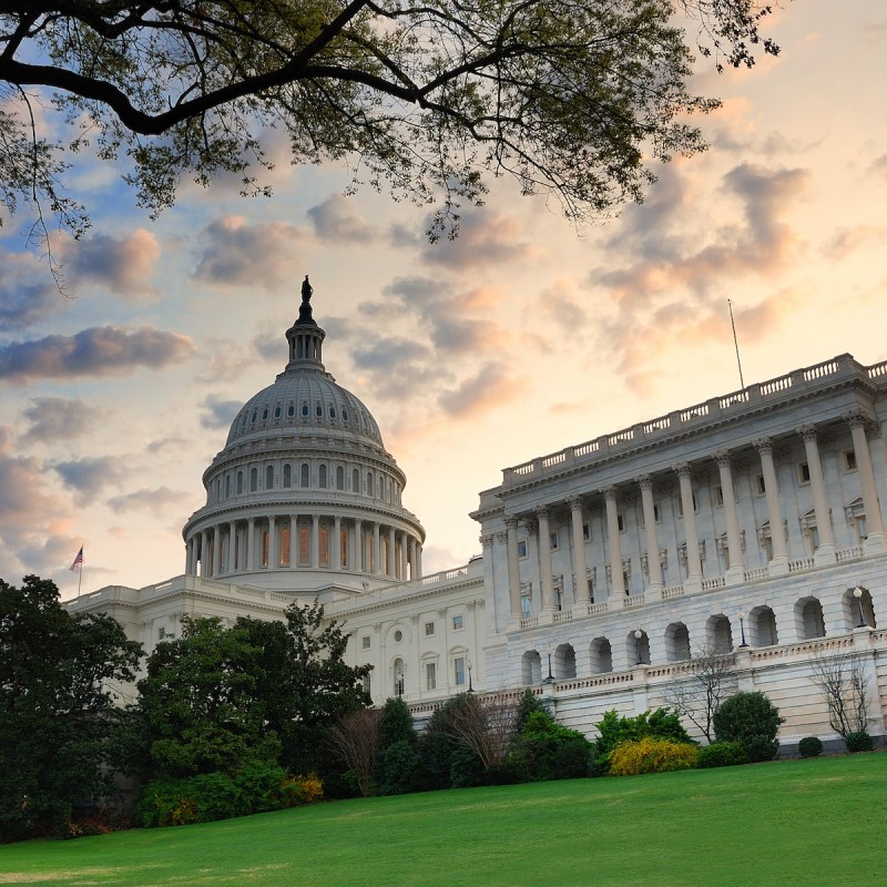
[[[185,543],[185,572],[214,578],[259,570],[329,569],[419,579],[421,541],[407,530],[339,514],[222,520]]]

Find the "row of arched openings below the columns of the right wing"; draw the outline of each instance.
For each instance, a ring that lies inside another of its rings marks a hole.
[[[822,602],[814,597],[801,598],[792,611],[794,630],[787,630],[783,642],[795,642],[825,638],[825,616]],[[843,622],[843,624],[842,624]],[[863,626],[876,628],[875,609],[867,589],[847,589],[842,598],[842,613],[837,621],[837,633]],[[634,665],[685,662],[701,650],[730,653],[737,648],[773,646],[779,643],[779,631],[774,611],[762,604],[748,613],[738,613],[731,620],[724,613],[708,616],[703,638],[691,643],[690,630],[683,622],[672,622],[654,639],[642,626],[628,632],[621,649],[614,651],[613,642],[605,636],[595,638],[589,644],[590,674],[606,674],[614,670]],[[615,656],[614,656],[615,652]],[[619,657],[622,661],[619,661]],[[547,652],[544,657],[538,650],[528,650],[521,660],[521,676],[524,684],[538,684],[546,679],[569,680],[577,677],[577,654],[572,644],[562,643]]]

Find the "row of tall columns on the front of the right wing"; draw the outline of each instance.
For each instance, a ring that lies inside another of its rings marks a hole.
[[[858,473],[858,483],[863,508],[867,523],[867,538],[865,540],[866,551],[883,550],[885,547],[884,520],[881,517],[878,490],[875,482],[875,471],[871,462],[868,439],[866,437],[866,425],[868,420],[861,411],[852,411],[843,417],[849,425],[853,440],[853,453],[855,456],[855,469]],[[828,489],[823,472],[822,455],[817,429],[812,426],[803,426],[797,429],[797,435],[804,445],[806,457],[807,473],[809,475],[809,487],[813,499],[813,512],[815,528],[818,533],[818,546],[813,552],[815,565],[833,563],[837,559],[837,547],[832,526],[832,511],[829,509]],[[787,441],[779,440],[779,443]],[[752,441],[752,446],[757,453],[763,477],[764,496],[766,501],[767,522],[769,524],[771,552],[767,562],[767,573],[778,575],[787,573],[789,570],[789,553],[784,527],[783,498],[779,495],[776,465],[774,461],[774,441],[768,437],[762,437]],[[736,450],[733,451],[735,453]],[[747,447],[743,449],[743,457],[747,458]],[[717,467],[717,477],[721,485],[723,502],[723,522],[725,529],[725,540],[722,548],[728,558],[728,565],[725,572],[725,583],[736,584],[746,581],[745,552],[743,551],[743,538],[740,529],[740,512],[734,496],[733,469],[734,457],[727,449],[720,449],[712,453],[712,459]],[[701,588],[703,582],[703,562],[700,544],[700,537],[696,528],[696,501],[694,498],[693,470],[703,467],[701,462],[691,466],[687,461],[676,462],[672,472],[660,472],[655,480],[671,480],[676,476],[680,489],[680,520],[683,527],[684,543],[679,544],[679,560],[684,568],[683,584],[685,588]],[[804,481],[806,482],[806,480]],[[609,582],[599,581],[600,590],[606,589],[604,594],[598,594],[600,602],[609,594],[628,593],[624,585],[623,571],[631,571],[630,560],[623,560],[621,527],[622,517],[620,514],[620,499],[636,496],[635,490],[640,491],[641,508],[644,522],[643,544],[646,548],[646,583],[644,592],[652,593],[656,599],[661,597],[663,590],[663,572],[661,558],[664,550],[661,548],[656,506],[653,498],[654,477],[651,473],[639,473],[632,479],[633,487],[626,485],[605,485],[597,490],[590,490],[588,498],[603,498],[604,524],[606,528],[604,539],[604,567],[609,573]],[[508,588],[509,608],[512,618],[522,615],[521,606],[521,572],[518,526],[520,522],[530,527],[534,532],[538,555],[538,579],[539,579],[539,600],[542,613],[553,613],[555,605],[554,585],[552,577],[552,551],[551,551],[551,519],[553,511],[562,511],[565,504],[570,510],[570,532],[572,534],[571,557],[572,572],[574,577],[573,594],[575,603],[591,601],[589,588],[590,564],[588,563],[588,551],[585,538],[584,507],[587,499],[583,496],[573,495],[558,502],[541,503],[532,511],[520,514],[504,514],[504,531],[487,537],[487,544],[492,546],[493,540],[506,548],[506,562],[508,565]],[[844,503],[842,503],[842,507]],[[798,516],[799,517],[799,516]],[[810,523],[813,526],[813,522]],[[493,554],[493,562],[497,555]]]

